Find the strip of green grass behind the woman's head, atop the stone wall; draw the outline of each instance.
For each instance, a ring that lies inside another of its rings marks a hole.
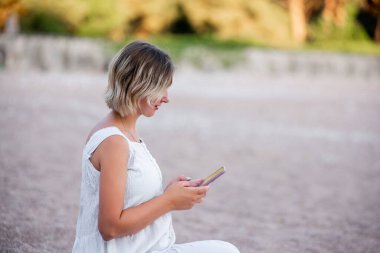
[[[125,44],[139,38],[130,37],[123,42],[111,44],[110,55]],[[292,52],[340,52],[380,56],[380,46],[361,38],[315,38],[304,46],[270,47],[255,41],[221,40],[211,36],[161,35],[143,39],[168,52],[174,62],[187,62],[199,69],[229,69],[245,61],[245,50],[249,48],[287,50]]]

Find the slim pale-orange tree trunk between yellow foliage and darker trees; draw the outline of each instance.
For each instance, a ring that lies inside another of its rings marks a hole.
[[[289,0],[289,14],[293,38],[303,43],[307,37],[304,0]]]

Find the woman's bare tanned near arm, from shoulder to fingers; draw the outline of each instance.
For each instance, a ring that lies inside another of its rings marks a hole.
[[[128,143],[121,136],[111,136],[95,152],[100,164],[98,227],[104,240],[135,234],[167,212],[190,209],[202,201],[208,190],[208,187],[193,187],[196,182],[177,181],[164,194],[123,210],[128,183]]]

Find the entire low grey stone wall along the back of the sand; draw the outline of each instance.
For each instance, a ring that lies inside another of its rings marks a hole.
[[[105,72],[110,60],[105,48],[106,42],[96,39],[2,35],[0,67],[11,71]],[[203,48],[191,49],[189,53],[191,57],[185,56],[178,65],[196,65],[204,71],[224,68],[217,55]],[[232,61],[227,71],[238,69],[254,75],[380,77],[380,57],[376,56],[247,49]]]

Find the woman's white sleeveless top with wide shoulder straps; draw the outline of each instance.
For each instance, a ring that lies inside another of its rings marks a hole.
[[[95,132],[82,156],[80,210],[73,253],[159,253],[172,248],[175,233],[172,217],[167,213],[130,236],[104,241],[98,229],[100,172],[90,162],[99,144],[112,135],[120,135],[129,145],[124,209],[138,206],[163,193],[162,174],[144,142],[130,141],[117,127]]]

